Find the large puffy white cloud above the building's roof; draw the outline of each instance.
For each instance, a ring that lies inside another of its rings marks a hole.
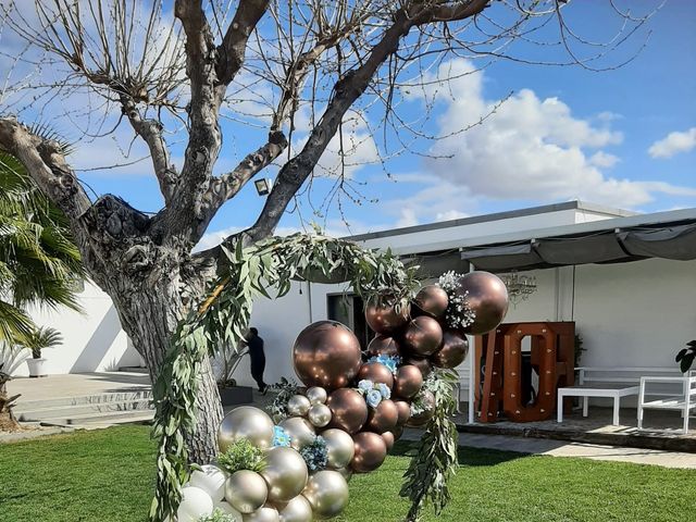
[[[426,94],[444,108],[438,132],[448,137],[431,149],[440,159],[426,160],[425,167],[452,186],[467,187],[470,197],[583,199],[632,208],[651,201],[655,191],[675,188],[604,172],[619,158],[601,149],[623,139],[611,128],[614,117],[608,113],[580,119],[562,100],[540,99],[530,89],[497,107],[499,100],[484,96],[484,74],[467,60],[443,64],[437,74],[439,78],[455,77],[447,87],[445,82],[434,83]],[[492,112],[482,125],[459,132]]]

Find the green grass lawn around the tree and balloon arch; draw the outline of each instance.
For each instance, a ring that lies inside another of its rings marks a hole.
[[[401,446],[401,451],[408,450]],[[145,520],[153,483],[148,428],[127,426],[0,445],[1,522]],[[694,521],[696,471],[464,448],[440,521]],[[398,521],[408,458],[353,477],[337,521]]]

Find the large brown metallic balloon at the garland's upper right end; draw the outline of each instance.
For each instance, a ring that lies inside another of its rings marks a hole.
[[[498,326],[508,312],[508,289],[505,283],[488,272],[471,272],[459,279],[457,294],[467,291],[467,306],[476,314],[468,334],[485,334]]]

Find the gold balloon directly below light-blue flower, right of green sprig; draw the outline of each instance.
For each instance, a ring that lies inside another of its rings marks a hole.
[[[300,453],[287,447],[271,448],[265,462],[261,476],[269,486],[271,502],[287,502],[302,493],[309,471]]]

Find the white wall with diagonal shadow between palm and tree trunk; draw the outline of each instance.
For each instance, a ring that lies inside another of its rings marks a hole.
[[[128,346],[109,296],[87,282],[79,302],[84,314],[64,308],[32,311],[37,325],[51,326],[63,336],[62,346],[42,352],[48,373],[103,372],[139,365],[140,357]],[[27,374],[26,365],[16,372],[18,376]]]

